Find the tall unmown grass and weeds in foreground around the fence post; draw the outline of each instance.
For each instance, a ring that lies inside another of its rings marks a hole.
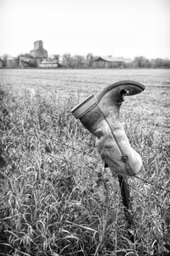
[[[103,170],[95,138],[70,113],[76,97],[1,91],[0,100],[0,255],[169,255],[169,213],[133,189],[135,242],[128,239],[118,178]],[[123,116],[144,161],[140,176],[169,188],[169,142],[142,129],[141,118]],[[165,191],[128,182],[169,208]]]

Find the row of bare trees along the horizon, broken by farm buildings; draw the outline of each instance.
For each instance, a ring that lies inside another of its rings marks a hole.
[[[21,56],[33,58],[29,53],[18,55],[16,58],[14,58],[15,68],[19,66],[19,58]],[[59,68],[94,68],[94,60],[96,60],[98,57],[100,56],[93,55],[92,53],[88,53],[86,56],[72,56],[70,53],[65,53],[62,56],[60,54],[54,54],[52,56],[52,58],[58,61]],[[7,54],[0,56],[2,67],[4,68],[7,66],[7,59]],[[32,66],[32,68],[36,68],[36,63]],[[167,58],[155,58],[149,60],[144,56],[138,56],[129,63],[118,63],[116,68],[170,68],[170,60]]]

